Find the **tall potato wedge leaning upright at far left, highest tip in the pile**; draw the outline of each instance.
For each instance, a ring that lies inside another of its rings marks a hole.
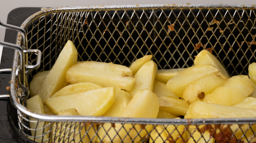
[[[39,94],[43,103],[55,92],[68,85],[66,82],[67,70],[77,62],[77,51],[72,41],[68,40],[61,50],[53,68],[46,76],[36,94]]]

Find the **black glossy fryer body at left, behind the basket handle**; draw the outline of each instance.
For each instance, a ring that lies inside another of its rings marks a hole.
[[[7,18],[7,24],[20,26],[29,16],[40,11],[40,8],[16,8],[13,9]],[[17,32],[6,29],[6,42],[14,43],[16,41]],[[11,68],[13,59],[13,50],[3,48],[0,69]],[[0,75],[0,94],[9,94],[6,90],[9,85],[10,74]],[[17,124],[15,118],[16,109],[11,105],[9,99],[0,100],[0,142],[2,143],[32,143],[25,136],[21,135],[14,124]]]

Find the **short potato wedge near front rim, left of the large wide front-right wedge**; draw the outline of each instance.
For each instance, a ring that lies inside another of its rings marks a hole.
[[[159,109],[170,112],[176,116],[184,116],[189,107],[189,103],[175,97],[162,96],[159,97]]]

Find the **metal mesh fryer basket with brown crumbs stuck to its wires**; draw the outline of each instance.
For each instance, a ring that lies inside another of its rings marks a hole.
[[[67,40],[75,43],[78,60],[129,66],[153,55],[159,69],[186,68],[202,49],[215,55],[230,75],[247,74],[255,62],[254,5],[125,5],[50,8],[29,17],[28,48],[42,51],[41,65],[27,82],[50,70]],[[20,35],[17,44],[20,43]],[[14,57],[13,69],[19,66]],[[32,64],[34,55],[28,56]],[[12,73],[12,81],[18,76]],[[143,119],[54,116],[32,113],[11,83],[20,133],[37,142],[254,142],[255,118]],[[43,128],[30,128],[36,124]],[[113,131],[115,135],[113,134]],[[34,135],[31,133],[34,132]],[[106,134],[99,138],[101,132]],[[155,135],[155,137],[154,137]],[[109,139],[110,138],[110,139]],[[154,140],[149,138],[155,138]]]

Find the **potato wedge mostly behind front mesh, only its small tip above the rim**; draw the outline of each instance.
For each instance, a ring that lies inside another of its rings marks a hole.
[[[79,113],[75,110],[75,108],[62,110],[59,112],[60,116],[79,116]],[[57,124],[57,125],[56,125]],[[96,125],[90,127],[90,124],[78,123],[78,122],[54,122],[53,123],[53,142],[54,143],[71,143],[74,142],[83,142],[95,143],[96,137],[95,130],[97,130]],[[93,129],[95,128],[95,130]],[[69,129],[69,130],[67,130]],[[88,130],[88,131],[87,131]],[[85,135],[87,133],[87,135]],[[84,136],[85,135],[85,136]],[[94,138],[93,138],[94,137]],[[74,139],[72,141],[72,139]]]

